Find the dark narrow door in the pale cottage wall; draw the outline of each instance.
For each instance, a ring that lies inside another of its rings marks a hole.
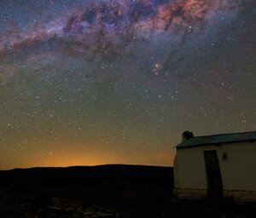
[[[218,164],[218,154],[214,151],[205,151],[207,171],[207,194],[209,198],[222,198],[223,184]]]

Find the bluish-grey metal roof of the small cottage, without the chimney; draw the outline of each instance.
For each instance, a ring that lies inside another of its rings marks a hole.
[[[189,140],[182,141],[176,147],[185,148],[191,146],[206,146],[206,145],[218,145],[230,142],[239,141],[255,141],[256,131],[244,132],[244,133],[231,133],[231,134],[220,134],[220,135],[205,135],[205,136],[194,136]]]

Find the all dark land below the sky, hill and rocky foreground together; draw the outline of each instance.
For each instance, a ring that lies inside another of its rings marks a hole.
[[[256,204],[178,201],[172,168],[108,165],[0,171],[0,218],[256,217]]]

